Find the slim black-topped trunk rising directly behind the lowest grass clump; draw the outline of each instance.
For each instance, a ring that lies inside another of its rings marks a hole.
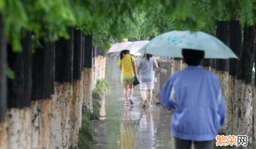
[[[84,98],[82,111],[93,111],[92,101],[92,58],[93,58],[93,35],[85,35],[84,37]]]

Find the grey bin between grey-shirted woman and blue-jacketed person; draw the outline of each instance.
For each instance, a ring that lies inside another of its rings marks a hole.
[[[163,60],[156,60],[159,68],[156,69],[154,95],[156,104],[160,104],[159,91],[172,74],[172,63]]]

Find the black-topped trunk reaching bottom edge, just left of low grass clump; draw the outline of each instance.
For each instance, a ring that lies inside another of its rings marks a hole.
[[[70,113],[70,147],[76,148],[78,143],[78,133],[82,118],[82,98],[83,98],[83,33],[82,30],[74,30],[74,69],[73,69],[73,100]]]

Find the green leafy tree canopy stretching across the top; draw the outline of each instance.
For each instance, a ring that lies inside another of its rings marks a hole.
[[[4,34],[21,51],[26,31],[33,41],[69,38],[67,28],[93,34],[93,45],[107,49],[110,40],[148,40],[170,30],[214,34],[216,20],[254,24],[255,0],[2,0]],[[34,42],[36,45],[38,42]]]

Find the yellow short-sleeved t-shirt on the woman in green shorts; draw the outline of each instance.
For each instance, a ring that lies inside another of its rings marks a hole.
[[[122,60],[119,59],[118,65],[122,66],[121,75],[134,75],[131,61],[135,61],[135,58],[129,54],[125,54]]]

